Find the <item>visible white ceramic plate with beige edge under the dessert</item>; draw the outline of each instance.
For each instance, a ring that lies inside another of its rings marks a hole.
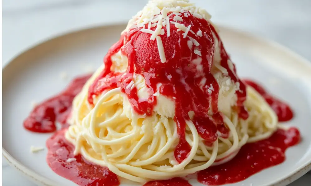
[[[63,90],[70,78],[102,64],[108,48],[125,25],[69,33],[22,53],[2,69],[2,150],[17,169],[41,185],[75,185],[55,174],[45,162],[46,149],[30,153],[30,146],[45,147],[51,134],[23,128],[32,101],[42,101]],[[261,82],[290,103],[302,141],[286,151],[286,161],[232,185],[286,185],[311,169],[311,63],[275,43],[220,27],[220,35],[240,77]],[[64,81],[60,73],[66,72]],[[200,185],[200,184],[194,184]]]

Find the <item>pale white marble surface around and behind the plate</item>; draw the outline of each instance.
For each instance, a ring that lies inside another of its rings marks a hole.
[[[309,0],[193,0],[212,20],[269,38],[311,61],[311,1]],[[95,25],[122,22],[146,0],[3,0],[2,66],[23,50],[52,36]],[[2,158],[4,186],[32,186]],[[290,186],[307,186],[307,173]],[[255,186],[256,184],[254,184]]]

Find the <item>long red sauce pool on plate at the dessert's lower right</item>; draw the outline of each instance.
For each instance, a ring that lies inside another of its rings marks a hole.
[[[270,138],[245,144],[229,162],[198,172],[197,179],[206,185],[231,184],[285,161],[285,150],[299,143],[298,129],[278,129]]]

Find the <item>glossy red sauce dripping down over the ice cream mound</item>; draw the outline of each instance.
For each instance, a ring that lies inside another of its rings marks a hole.
[[[209,132],[199,132],[201,137],[209,143],[213,143],[217,139],[215,130],[219,131],[224,138],[229,136],[229,129],[222,121],[221,113],[218,112],[219,85],[211,73],[215,47],[220,47],[220,64],[226,69],[231,80],[240,85],[240,90],[236,92],[238,97],[237,112],[244,119],[248,117],[243,106],[246,99],[245,85],[236,75],[235,67],[230,68],[229,55],[214,26],[207,20],[194,17],[190,13],[188,16],[184,16],[184,14],[180,16],[183,21],[176,22],[185,27],[191,25],[192,32],[188,32],[187,37],[184,38],[183,32],[178,31],[173,23],[169,23],[171,29],[170,36],[167,37],[166,27],[163,27],[164,34],[159,37],[162,40],[167,59],[165,63],[161,62],[157,42],[150,39],[150,33],[141,32],[141,28],[130,29],[123,33],[120,40],[110,48],[104,57],[105,68],[90,86],[88,95],[89,103],[93,104],[94,95],[98,96],[105,90],[120,87],[121,91],[128,96],[132,108],[137,113],[147,116],[153,114],[157,103],[157,97],[154,94],[157,91],[174,100],[174,121],[177,124],[179,135],[179,143],[174,150],[174,156],[179,163],[188,156],[191,150],[185,139],[186,120],[190,120],[189,111],[195,113],[197,130],[206,128],[206,121],[210,126],[215,126]],[[173,19],[174,14],[169,17],[169,20],[173,21]],[[148,25],[145,26],[147,28]],[[155,29],[156,27],[151,28],[153,31]],[[195,34],[199,30],[202,32],[202,37]],[[199,45],[194,43],[189,47],[188,42],[191,39],[188,37],[194,39]],[[218,40],[219,46],[215,46],[215,39]],[[194,50],[200,51],[201,54],[195,54]],[[128,68],[125,73],[111,70],[113,63],[111,56],[118,51],[128,58]],[[148,99],[139,99],[137,88],[129,86],[134,80],[134,74],[145,78],[146,87],[149,90]],[[159,84],[161,86],[158,88]],[[207,116],[209,110],[212,111],[213,117]]]

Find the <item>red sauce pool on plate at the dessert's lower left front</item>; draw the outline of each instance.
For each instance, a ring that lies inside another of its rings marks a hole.
[[[50,168],[80,186],[118,186],[118,176],[107,167],[88,162],[80,154],[73,154],[75,147],[65,139],[66,129],[55,132],[46,141],[49,150],[46,161]],[[71,158],[74,159],[68,161]]]

